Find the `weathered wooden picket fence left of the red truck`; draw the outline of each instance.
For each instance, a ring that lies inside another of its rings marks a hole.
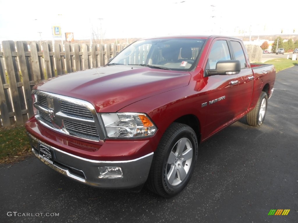
[[[0,128],[33,115],[31,90],[41,80],[105,65],[125,45],[3,41],[0,48]]]

